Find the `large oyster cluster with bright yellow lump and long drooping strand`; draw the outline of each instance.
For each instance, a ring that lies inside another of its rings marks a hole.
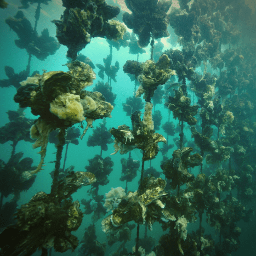
[[[101,93],[83,90],[95,79],[92,67],[80,61],[66,65],[69,72],[52,71],[28,77],[14,96],[20,107],[31,107],[33,115],[41,116],[31,128],[31,138],[37,139],[33,147],[41,146],[41,162],[36,172],[42,169],[48,136],[53,129],[71,127],[86,118],[85,134],[93,120],[110,117],[113,109]]]

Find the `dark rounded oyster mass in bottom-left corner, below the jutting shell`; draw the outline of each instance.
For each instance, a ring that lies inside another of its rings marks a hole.
[[[82,215],[78,201],[58,207],[53,198],[44,192],[38,192],[18,210],[18,222],[1,233],[1,240],[5,240],[5,246],[1,246],[2,252],[8,253],[11,247],[15,247],[19,253],[30,254],[36,252],[37,248],[54,247],[57,252],[74,250],[78,246],[78,239],[71,235],[71,231],[77,230],[81,225]],[[64,237],[60,235],[60,230],[65,234]],[[11,234],[16,234],[18,239],[13,240]],[[12,243],[10,248],[7,241]]]

